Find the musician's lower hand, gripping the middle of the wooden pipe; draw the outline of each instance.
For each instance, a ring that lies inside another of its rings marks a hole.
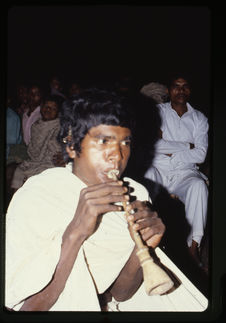
[[[165,232],[165,225],[158,217],[157,212],[152,211],[149,202],[134,201],[126,207],[127,211],[133,210],[128,220],[134,222],[133,228],[139,231],[143,241],[149,247],[155,248],[160,243]]]

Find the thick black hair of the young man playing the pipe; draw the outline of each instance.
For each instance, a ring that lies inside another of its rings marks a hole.
[[[92,127],[100,124],[121,126],[133,133],[134,118],[130,103],[125,98],[114,92],[90,88],[63,103],[60,124],[58,140],[62,144],[64,160],[68,162],[66,146],[73,146],[79,155],[81,142]]]

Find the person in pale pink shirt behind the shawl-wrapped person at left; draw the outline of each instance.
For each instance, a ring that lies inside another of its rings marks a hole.
[[[40,106],[42,103],[42,91],[39,85],[32,85],[28,92],[28,106],[23,113],[22,129],[23,140],[28,146],[31,138],[31,126],[41,118]]]

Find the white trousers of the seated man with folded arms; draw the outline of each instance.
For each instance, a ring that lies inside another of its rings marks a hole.
[[[208,187],[205,175],[197,170],[165,175],[153,166],[146,172],[145,178],[161,184],[184,203],[186,219],[191,226],[187,244],[190,247],[194,240],[200,245],[207,219]]]

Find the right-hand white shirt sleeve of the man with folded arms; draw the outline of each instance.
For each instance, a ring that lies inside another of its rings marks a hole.
[[[208,119],[203,115],[202,118],[198,120],[194,133],[195,148],[173,153],[171,163],[203,163],[205,161],[208,149],[208,130]]]

